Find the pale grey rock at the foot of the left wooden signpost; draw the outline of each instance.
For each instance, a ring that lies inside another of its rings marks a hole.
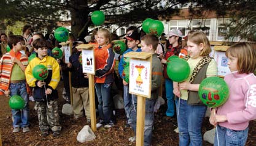
[[[93,141],[93,139],[95,138],[96,138],[95,134],[91,130],[90,126],[88,125],[83,126],[82,130],[79,131],[79,133],[77,134],[77,141],[81,143]]]

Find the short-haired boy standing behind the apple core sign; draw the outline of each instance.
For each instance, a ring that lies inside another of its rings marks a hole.
[[[163,66],[155,54],[157,49],[158,38],[155,35],[148,34],[141,38],[142,52],[152,53],[152,84],[151,84],[151,97],[145,100],[145,126],[144,126],[144,145],[151,145],[153,120],[154,120],[154,106],[158,98],[159,87],[161,84]],[[133,103],[130,106],[131,112],[128,122],[136,134],[136,107],[137,98],[133,98]],[[134,142],[135,138],[130,137],[129,141]]]

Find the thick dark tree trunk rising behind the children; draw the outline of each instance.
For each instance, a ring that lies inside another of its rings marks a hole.
[[[75,39],[84,38],[88,34],[88,1],[73,0],[71,9],[71,29]],[[85,26],[87,24],[87,26]],[[84,27],[85,26],[85,27]],[[80,32],[81,31],[81,32]]]

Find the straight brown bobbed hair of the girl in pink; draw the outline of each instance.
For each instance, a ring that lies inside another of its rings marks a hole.
[[[226,51],[226,56],[238,58],[238,73],[254,73],[256,68],[256,49],[249,43],[237,43],[230,46]]]

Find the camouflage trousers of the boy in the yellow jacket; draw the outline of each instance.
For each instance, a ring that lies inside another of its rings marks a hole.
[[[36,110],[39,121],[39,128],[41,131],[49,130],[60,131],[60,117],[58,114],[58,103],[56,100],[48,101],[36,101]]]

